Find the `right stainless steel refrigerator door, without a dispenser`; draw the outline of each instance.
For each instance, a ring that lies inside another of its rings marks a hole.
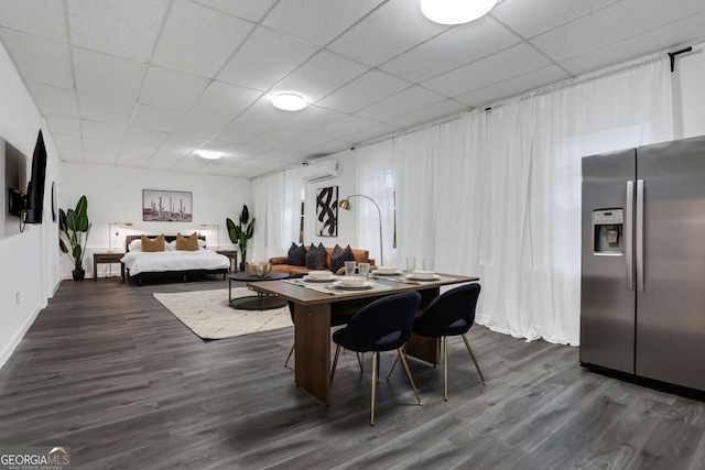
[[[637,374],[705,390],[705,138],[640,147],[637,163]]]

